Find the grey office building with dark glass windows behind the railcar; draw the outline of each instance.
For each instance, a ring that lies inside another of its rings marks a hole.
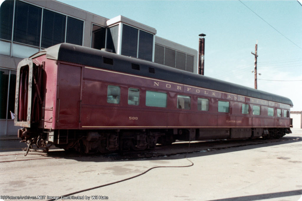
[[[156,36],[156,29],[123,16],[98,16],[54,0],[6,0],[0,9],[0,135],[17,135],[14,113],[18,63],[67,42],[197,73],[196,50]]]

